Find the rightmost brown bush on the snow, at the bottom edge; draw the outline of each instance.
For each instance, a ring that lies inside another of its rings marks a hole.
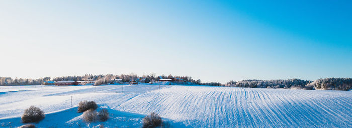
[[[143,128],[144,127],[159,127],[162,124],[161,117],[154,112],[143,118]]]

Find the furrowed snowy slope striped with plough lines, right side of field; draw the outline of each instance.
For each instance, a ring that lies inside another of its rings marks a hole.
[[[351,127],[351,101],[349,91],[172,86],[120,106],[192,127]]]

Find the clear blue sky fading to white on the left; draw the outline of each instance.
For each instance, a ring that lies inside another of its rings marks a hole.
[[[351,1],[1,1],[0,76],[352,77]]]

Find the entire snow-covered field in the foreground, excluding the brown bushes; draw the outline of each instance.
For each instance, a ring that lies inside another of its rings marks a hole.
[[[108,108],[111,118],[82,122],[82,100]],[[22,125],[30,105],[46,113],[39,127],[140,127],[150,112],[173,127],[352,127],[351,91],[191,85],[0,86],[0,127]]]

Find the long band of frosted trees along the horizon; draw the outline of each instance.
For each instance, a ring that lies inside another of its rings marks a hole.
[[[278,79],[278,80],[241,80],[229,81],[226,84],[220,82],[203,83],[200,79],[194,80],[191,76],[172,76],[161,75],[162,78],[181,78],[188,81],[190,84],[211,85],[211,86],[228,86],[228,87],[250,87],[250,88],[283,88],[283,89],[321,89],[321,90],[350,90],[352,87],[352,78],[324,78],[315,81],[301,80],[301,79]],[[65,80],[94,80],[96,85],[109,84],[114,79],[122,79],[122,82],[129,82],[135,79],[145,78],[145,82],[153,82],[158,80],[155,73],[148,75],[137,76],[135,73],[121,74],[121,75],[92,75],[85,74],[83,76],[62,76],[62,77],[43,77],[39,79],[24,79],[0,77],[0,85],[40,85],[45,81],[65,81]]]

